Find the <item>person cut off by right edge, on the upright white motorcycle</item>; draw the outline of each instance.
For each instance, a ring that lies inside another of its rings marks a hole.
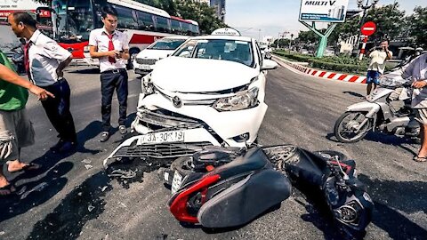
[[[427,53],[413,60],[402,74],[403,78],[411,78],[412,86],[415,88],[412,95],[412,108],[416,111],[416,121],[421,125],[421,148],[416,162],[427,161]]]

